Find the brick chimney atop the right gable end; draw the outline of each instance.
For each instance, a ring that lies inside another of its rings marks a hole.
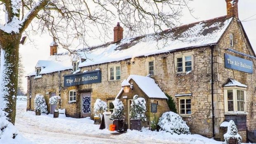
[[[227,3],[227,17],[238,18],[238,0],[226,0]]]

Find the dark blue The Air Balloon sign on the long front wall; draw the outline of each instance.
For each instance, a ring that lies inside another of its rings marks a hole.
[[[64,87],[101,83],[101,71],[90,71],[64,76]]]

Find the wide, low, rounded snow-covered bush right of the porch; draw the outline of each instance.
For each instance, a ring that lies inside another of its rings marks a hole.
[[[186,122],[172,111],[163,113],[161,118],[159,118],[158,125],[161,130],[171,132],[171,134],[190,134],[190,128],[187,126]]]

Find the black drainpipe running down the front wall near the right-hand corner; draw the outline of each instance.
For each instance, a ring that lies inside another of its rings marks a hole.
[[[214,133],[214,106],[213,106],[213,49],[214,49],[214,46],[211,45],[210,46],[211,48],[211,111],[212,111],[212,125],[213,125],[213,138],[215,136],[215,133]]]

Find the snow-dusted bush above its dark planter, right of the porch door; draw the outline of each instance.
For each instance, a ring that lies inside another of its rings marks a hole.
[[[132,104],[130,104],[130,119],[140,119],[146,121],[146,101],[144,98],[138,98],[138,95],[133,96]]]

